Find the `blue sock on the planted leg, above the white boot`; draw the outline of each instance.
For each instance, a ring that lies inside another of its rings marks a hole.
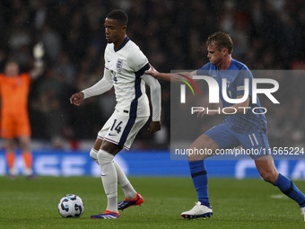
[[[202,205],[210,207],[210,200],[207,194],[207,174],[204,161],[188,162],[194,187],[197,191],[198,201]]]

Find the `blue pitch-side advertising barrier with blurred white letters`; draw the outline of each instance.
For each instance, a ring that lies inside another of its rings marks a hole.
[[[190,177],[186,160],[170,160],[168,151],[123,151],[115,160],[128,176]],[[293,180],[305,180],[304,160],[275,160],[279,172]],[[17,153],[15,167],[23,173],[21,154]],[[206,160],[209,177],[259,178],[253,160]],[[39,176],[100,176],[100,167],[93,162],[89,151],[33,151],[33,170]],[[7,174],[4,151],[0,151],[0,175]]]

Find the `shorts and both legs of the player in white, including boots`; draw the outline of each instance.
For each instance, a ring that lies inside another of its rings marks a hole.
[[[100,150],[97,154],[97,158],[98,163],[100,164],[101,180],[108,198],[108,206],[105,213],[98,216],[92,216],[92,218],[109,218],[109,212],[110,214],[119,216],[119,207],[124,209],[133,205],[135,206],[135,204],[120,205],[117,202],[118,177],[120,178],[119,182],[122,185],[122,189],[129,189],[128,195],[132,196],[132,198],[136,198],[138,195],[131,186],[130,182],[127,180],[124,172],[121,171],[121,168],[118,166],[118,164],[114,162],[113,158],[114,155],[118,154],[118,152],[123,147],[129,149],[130,145],[132,145],[135,139],[135,135],[139,129],[144,126],[147,119],[148,117],[130,118],[115,111],[114,114],[106,122],[104,127],[100,130],[98,138],[103,139],[103,141],[100,145]],[[94,154],[94,151],[92,151],[92,154]],[[130,194],[130,189],[133,189],[132,192],[135,194],[134,197],[132,194]],[[132,200],[130,198],[128,199]],[[143,202],[143,198],[141,200]],[[130,203],[134,203],[134,201]],[[138,201],[135,201],[135,203],[138,205]],[[105,217],[105,215],[107,215],[107,217]]]

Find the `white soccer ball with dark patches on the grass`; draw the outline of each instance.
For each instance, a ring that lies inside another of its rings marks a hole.
[[[60,216],[65,218],[80,217],[83,214],[83,200],[82,198],[68,194],[61,198],[58,203],[58,212]]]

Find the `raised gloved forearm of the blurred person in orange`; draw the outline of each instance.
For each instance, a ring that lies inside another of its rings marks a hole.
[[[34,56],[34,68],[30,71],[30,78],[36,79],[40,75],[42,75],[44,66],[43,66],[43,56],[45,54],[45,50],[43,48],[42,42],[37,43],[33,48],[33,56]]]

